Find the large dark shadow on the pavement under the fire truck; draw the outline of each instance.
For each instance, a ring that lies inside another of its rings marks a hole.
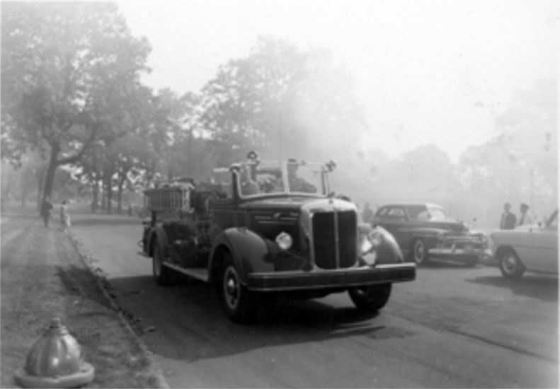
[[[200,281],[160,287],[152,277],[110,279],[116,301],[144,327],[155,354],[197,361],[276,345],[321,342],[364,335],[372,339],[408,337],[413,332],[384,324],[382,314],[332,306],[323,299],[261,304],[256,323],[236,325],[222,312],[215,289]]]

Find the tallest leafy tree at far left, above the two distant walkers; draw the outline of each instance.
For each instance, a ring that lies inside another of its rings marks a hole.
[[[3,150],[48,153],[44,198],[57,168],[126,115],[149,45],[112,3],[13,2],[2,5],[1,47]]]

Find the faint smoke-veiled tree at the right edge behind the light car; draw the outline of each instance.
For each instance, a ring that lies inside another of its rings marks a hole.
[[[537,214],[557,207],[558,91],[542,80],[518,91],[496,118],[496,134],[472,146],[458,164],[467,193],[496,223],[504,202],[527,202]]]

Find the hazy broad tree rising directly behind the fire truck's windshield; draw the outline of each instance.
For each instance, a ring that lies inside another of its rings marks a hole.
[[[326,50],[299,50],[268,37],[260,37],[248,57],[219,68],[202,90],[201,105],[202,127],[223,145],[223,164],[247,149],[325,158],[340,146],[334,139],[342,131],[351,141],[367,128],[353,80]]]

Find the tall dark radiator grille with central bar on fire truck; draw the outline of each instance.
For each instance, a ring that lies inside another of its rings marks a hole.
[[[336,216],[334,212],[317,212],[312,220],[315,264],[323,269],[353,266],[358,250],[355,211],[336,212]]]

